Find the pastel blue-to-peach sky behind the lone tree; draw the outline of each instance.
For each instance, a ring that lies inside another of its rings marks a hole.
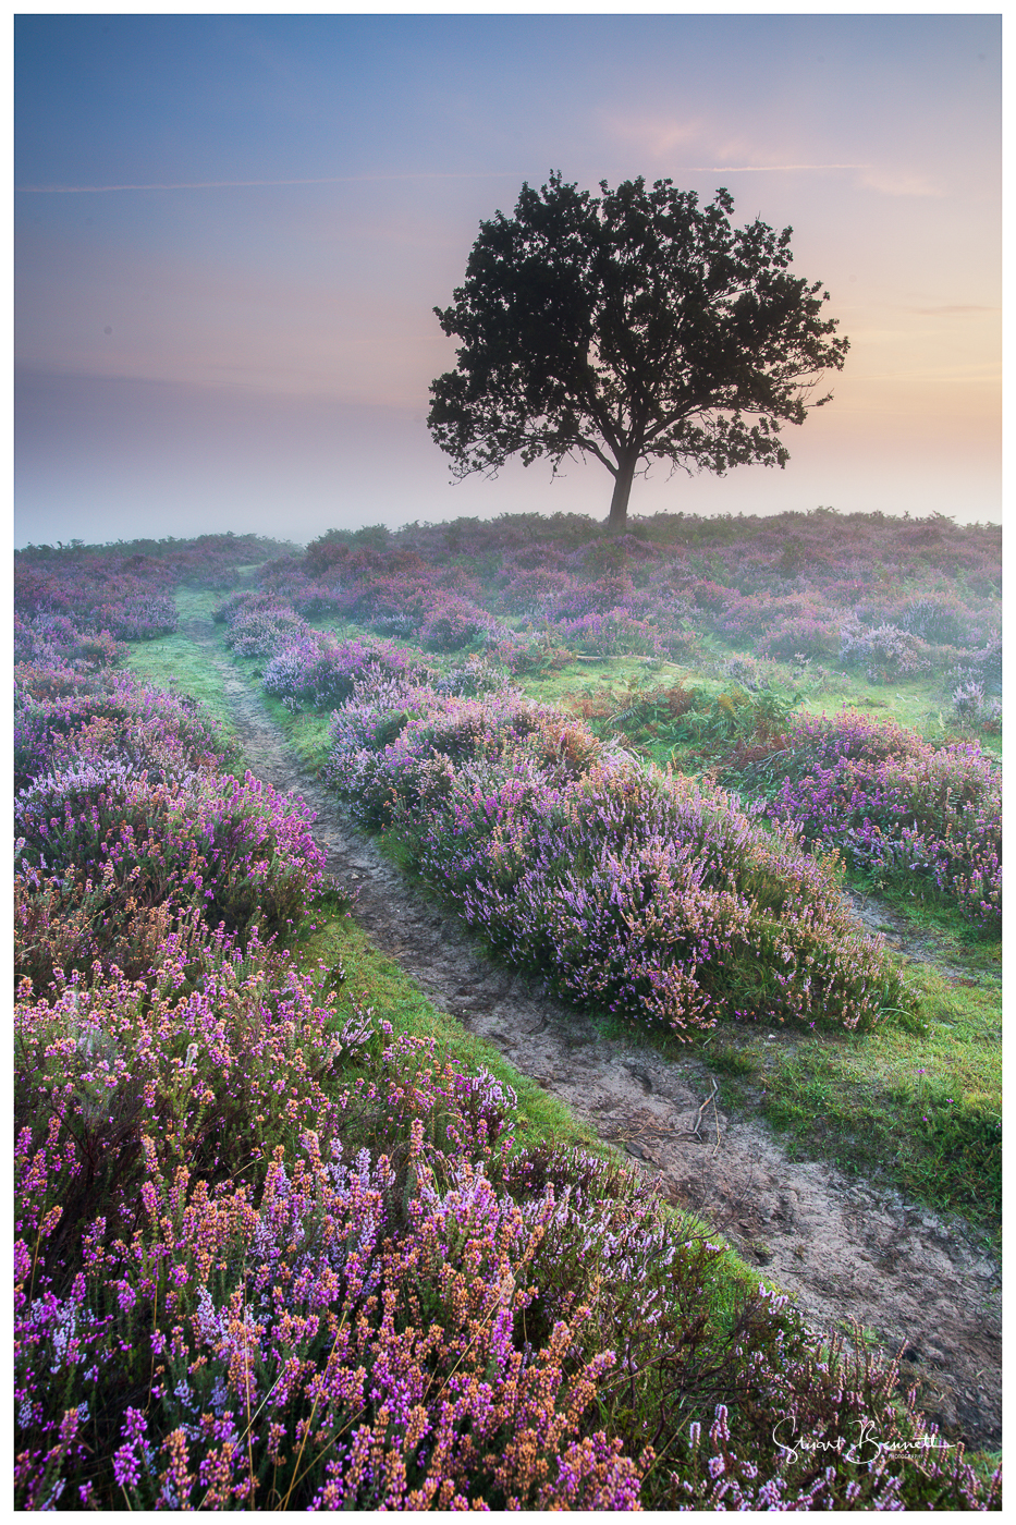
[[[15,541],[606,517],[450,483],[433,316],[551,169],[793,226],[851,343],[784,471],[630,511],[1001,517],[998,15],[20,15]]]

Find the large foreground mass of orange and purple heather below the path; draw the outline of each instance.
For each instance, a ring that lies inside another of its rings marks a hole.
[[[780,1299],[717,1336],[722,1252],[645,1186],[262,947],[15,1023],[20,1507],[995,1502]],[[847,1414],[914,1459],[816,1467]]]

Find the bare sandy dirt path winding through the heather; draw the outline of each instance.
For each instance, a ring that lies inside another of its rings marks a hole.
[[[796,1296],[815,1328],[856,1321],[891,1354],[903,1351],[905,1377],[920,1383],[923,1406],[950,1438],[999,1447],[999,1266],[961,1225],[833,1165],[789,1161],[763,1122],[703,1107],[712,1081],[700,1060],[673,1063],[609,1042],[537,982],[479,956],[462,923],[415,897],[334,796],[297,769],[256,694],[215,654],[211,622],[183,628],[223,674],[252,772],[317,811],[328,871],[358,886],[358,921],[435,1005],[627,1150],[671,1203],[703,1212]]]

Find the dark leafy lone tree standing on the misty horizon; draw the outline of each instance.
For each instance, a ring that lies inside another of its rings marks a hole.
[[[706,207],[671,180],[600,189],[551,174],[522,186],[513,218],[481,223],[465,285],[435,308],[462,348],[430,384],[427,424],[459,479],[516,454],[548,456],[555,474],[595,456],[619,526],[654,458],[671,474],[786,465],[780,425],[804,422],[848,342],[830,337],[822,284],[787,274],[793,229],[732,227],[723,189]]]

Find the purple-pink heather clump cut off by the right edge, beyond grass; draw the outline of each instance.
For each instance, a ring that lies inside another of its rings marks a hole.
[[[773,819],[859,868],[931,880],[981,927],[1001,929],[1001,770],[978,743],[934,747],[905,726],[844,712],[790,730],[780,775]]]

